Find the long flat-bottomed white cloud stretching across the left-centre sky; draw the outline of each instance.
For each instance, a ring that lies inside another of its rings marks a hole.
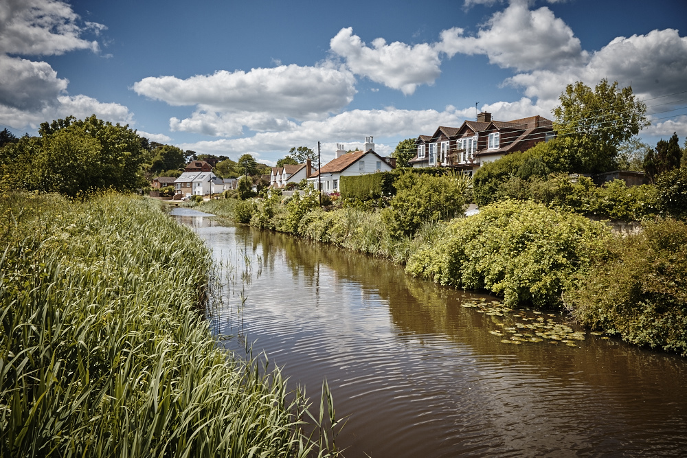
[[[148,77],[135,82],[139,95],[173,106],[197,105],[204,111],[272,113],[313,119],[339,111],[353,100],[355,78],[333,66],[281,65],[268,69],[217,71],[181,80]]]

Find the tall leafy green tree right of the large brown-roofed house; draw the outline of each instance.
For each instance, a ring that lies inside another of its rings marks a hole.
[[[568,84],[554,108],[554,130],[570,150],[575,172],[601,173],[617,168],[618,146],[649,125],[646,105],[631,87],[603,79],[594,91],[581,81]]]

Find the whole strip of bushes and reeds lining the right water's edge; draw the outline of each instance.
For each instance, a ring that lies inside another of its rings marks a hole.
[[[406,264],[407,273],[439,284],[486,289],[511,307],[565,308],[587,328],[687,354],[682,222],[647,222],[642,233],[622,237],[572,212],[505,201],[476,216],[429,220],[405,235],[398,218],[385,218],[387,209],[325,211],[311,195],[285,204],[275,197],[206,205],[260,229]]]

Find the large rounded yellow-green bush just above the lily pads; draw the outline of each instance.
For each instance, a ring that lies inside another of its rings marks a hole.
[[[559,306],[572,277],[605,253],[610,229],[543,204],[504,201],[449,222],[406,271],[443,285],[486,288],[508,306]]]

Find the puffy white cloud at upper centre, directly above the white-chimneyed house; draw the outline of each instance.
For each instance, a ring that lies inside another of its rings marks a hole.
[[[348,27],[339,30],[329,44],[353,73],[399,89],[405,95],[414,93],[419,84],[432,84],[441,73],[439,51],[427,43],[387,44],[383,38],[376,38],[368,47]]]

